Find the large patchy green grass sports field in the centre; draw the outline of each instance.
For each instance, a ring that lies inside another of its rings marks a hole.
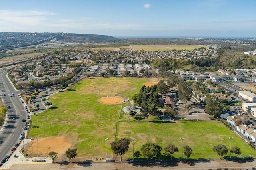
[[[145,78],[89,78],[76,83],[76,87],[50,97],[53,103],[47,111],[32,116],[32,126],[28,137],[69,136],[73,148],[78,149],[81,160],[92,157],[104,158],[106,150],[112,157],[110,142],[116,138],[136,138],[134,151],[139,150],[147,141],[154,142],[164,149],[168,144],[175,144],[181,156],[180,138],[185,138],[184,145],[193,149],[191,158],[208,158],[218,155],[212,151],[217,144],[226,144],[230,148],[229,137],[234,137],[232,146],[238,146],[244,156],[255,155],[255,151],[240,140],[218,121],[178,121],[163,123],[154,117],[148,121],[135,120],[119,112],[120,104],[105,105],[98,102],[107,95],[131,97],[138,93],[145,82],[156,79]],[[124,103],[124,106],[128,106]],[[105,138],[108,141],[105,142]],[[162,150],[163,150],[162,149]],[[123,158],[132,157],[132,143]]]

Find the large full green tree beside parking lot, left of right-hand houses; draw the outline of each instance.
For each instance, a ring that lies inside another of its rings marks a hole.
[[[207,95],[205,111],[214,117],[220,116],[220,113],[222,112],[222,106],[213,95]]]

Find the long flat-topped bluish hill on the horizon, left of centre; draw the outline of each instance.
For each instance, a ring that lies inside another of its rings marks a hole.
[[[97,34],[76,34],[76,33],[60,33],[55,36],[56,41],[64,42],[110,42],[116,41],[118,38]]]

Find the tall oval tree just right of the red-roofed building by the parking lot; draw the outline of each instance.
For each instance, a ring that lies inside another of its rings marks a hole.
[[[178,94],[184,105],[190,100],[192,89],[188,86],[186,81],[178,83]]]

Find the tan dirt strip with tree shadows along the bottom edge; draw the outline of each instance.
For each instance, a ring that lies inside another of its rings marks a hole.
[[[225,160],[215,160],[215,161],[202,161],[202,162],[138,162],[138,163],[91,163],[91,162],[76,162],[76,163],[54,163],[54,164],[37,164],[37,165],[14,165],[11,170],[20,169],[37,169],[37,170],[59,170],[59,169],[93,169],[93,170],[162,170],[162,169],[172,169],[172,170],[202,170],[202,169],[212,169],[217,170],[218,168],[228,170],[253,170],[256,167],[256,161],[247,162],[232,162]]]

